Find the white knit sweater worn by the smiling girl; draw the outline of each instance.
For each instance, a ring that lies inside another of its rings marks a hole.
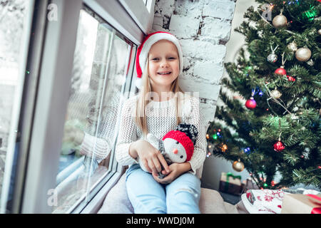
[[[121,111],[121,123],[119,126],[116,143],[116,160],[121,165],[133,165],[138,163],[129,155],[129,147],[136,140],[145,139],[141,129],[135,123],[135,105],[138,95],[128,98],[123,103]],[[175,100],[171,98],[165,101],[151,100],[146,107],[148,133],[152,133],[158,139],[170,130],[175,130]],[[199,100],[190,95],[185,95],[183,100],[182,122],[193,124],[198,129],[198,138],[195,142],[193,156],[190,159],[192,170],[189,172],[200,178],[203,170],[203,162],[206,157],[206,138],[203,123],[203,113],[200,110]]]

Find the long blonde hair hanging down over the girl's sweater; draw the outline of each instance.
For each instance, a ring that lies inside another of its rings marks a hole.
[[[149,56],[149,54],[148,54]],[[143,132],[143,135],[148,134],[148,128],[147,128],[147,118],[146,118],[146,107],[148,103],[150,102],[150,99],[146,99],[146,95],[150,95],[151,92],[151,78],[148,75],[148,66],[149,66],[149,58],[147,57],[146,66],[143,71],[143,75],[141,78],[141,90],[138,93],[138,99],[136,102],[136,124],[139,128],[141,128],[141,131]],[[172,85],[170,86],[170,91],[174,93],[174,99],[175,99],[175,116],[176,116],[176,123],[177,125],[181,122],[181,115],[178,115],[181,112],[181,108],[179,104],[180,101],[180,93],[184,93],[183,90],[180,89],[180,86],[178,86],[178,78],[179,76],[173,81]],[[180,93],[179,93],[180,92]]]

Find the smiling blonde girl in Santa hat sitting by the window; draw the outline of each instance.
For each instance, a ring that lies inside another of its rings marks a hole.
[[[161,31],[146,36],[138,48],[136,71],[141,89],[123,104],[116,144],[116,160],[129,166],[128,198],[135,213],[200,213],[205,128],[198,98],[186,95],[178,86],[178,76],[183,73],[178,39]],[[193,156],[188,162],[168,165],[161,152],[145,140],[146,135],[152,133],[161,140],[181,122],[198,129]],[[138,157],[148,172],[141,169]],[[159,179],[158,172],[166,176]]]

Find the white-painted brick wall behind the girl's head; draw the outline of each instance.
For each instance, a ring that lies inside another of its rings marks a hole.
[[[206,129],[214,120],[234,10],[233,0],[156,0],[151,32],[168,31],[180,40],[180,87],[199,92]]]

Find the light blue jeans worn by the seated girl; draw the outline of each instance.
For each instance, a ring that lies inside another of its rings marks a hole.
[[[126,171],[126,189],[136,214],[200,214],[200,179],[190,172],[164,185],[135,164]]]

